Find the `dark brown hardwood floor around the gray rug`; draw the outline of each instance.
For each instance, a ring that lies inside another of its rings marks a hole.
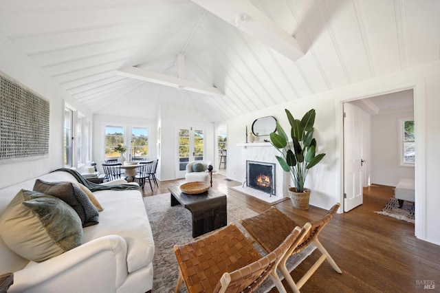
[[[151,192],[148,183],[144,196],[168,193],[168,186],[184,180],[159,182]],[[256,213],[270,204],[229,189],[240,182],[213,175],[213,188],[225,193],[228,201],[246,206]],[[440,292],[440,246],[414,236],[414,225],[391,217],[377,215],[393,195],[391,186],[364,188],[364,204],[349,213],[336,214],[320,233],[320,242],[338,263],[338,274],[325,261],[301,288],[301,292]],[[313,196],[313,195],[311,195]],[[275,205],[298,224],[318,219],[327,210],[310,206],[309,210],[292,207],[289,199]],[[300,279],[320,257],[315,250],[292,272]],[[424,290],[423,282],[434,283],[434,290]],[[284,283],[284,282],[283,282]],[[292,292],[285,284],[287,292]],[[272,289],[271,292],[278,292]]]

